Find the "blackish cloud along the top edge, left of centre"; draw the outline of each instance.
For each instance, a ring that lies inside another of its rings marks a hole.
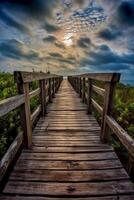
[[[24,12],[35,19],[43,19],[44,16],[52,17],[54,3],[54,0],[0,0],[0,4],[7,9]]]

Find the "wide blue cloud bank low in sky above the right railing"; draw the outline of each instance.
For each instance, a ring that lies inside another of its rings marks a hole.
[[[101,45],[96,51],[91,51],[89,58],[82,59],[80,66],[93,66],[94,69],[102,66],[108,70],[125,70],[134,64],[134,53],[119,55],[113,52],[107,45]],[[126,68],[125,68],[126,67]]]

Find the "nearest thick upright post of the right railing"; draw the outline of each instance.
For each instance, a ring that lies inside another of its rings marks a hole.
[[[101,140],[103,142],[108,141],[109,127],[106,124],[106,115],[110,115],[113,108],[113,96],[115,91],[116,82],[105,83],[105,97],[103,104],[103,114],[101,121]]]

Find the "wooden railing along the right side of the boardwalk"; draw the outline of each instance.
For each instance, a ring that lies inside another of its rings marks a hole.
[[[101,140],[107,142],[109,138],[109,130],[111,129],[118,137],[129,153],[129,172],[134,170],[134,140],[128,133],[113,119],[113,97],[115,86],[120,80],[119,73],[93,73],[82,74],[77,76],[69,76],[69,82],[87,103],[88,113],[91,114],[93,108],[101,115]],[[104,89],[94,85],[93,82],[102,81],[105,85]],[[93,98],[93,92],[103,98],[103,106],[99,105]]]

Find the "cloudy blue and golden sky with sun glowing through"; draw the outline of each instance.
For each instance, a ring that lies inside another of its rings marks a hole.
[[[0,71],[134,80],[134,0],[0,0]]]

